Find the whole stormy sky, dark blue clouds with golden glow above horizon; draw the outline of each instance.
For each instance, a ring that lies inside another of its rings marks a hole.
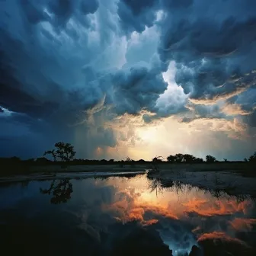
[[[256,150],[255,0],[1,0],[0,155]]]

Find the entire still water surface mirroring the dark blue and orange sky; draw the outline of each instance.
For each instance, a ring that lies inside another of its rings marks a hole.
[[[250,197],[146,174],[0,184],[3,255],[253,255],[255,231]]]

